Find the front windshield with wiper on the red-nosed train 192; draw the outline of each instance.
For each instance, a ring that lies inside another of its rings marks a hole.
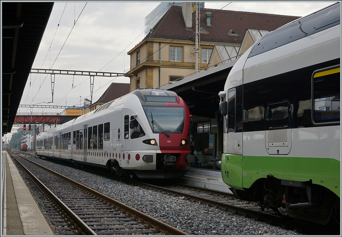
[[[153,133],[163,133],[157,125],[167,133],[183,133],[184,107],[143,106],[143,108]]]

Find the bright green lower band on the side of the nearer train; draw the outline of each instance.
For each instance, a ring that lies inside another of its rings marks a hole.
[[[232,188],[250,188],[260,178],[308,181],[324,186],[340,197],[340,161],[329,158],[255,157],[222,154],[223,182]]]

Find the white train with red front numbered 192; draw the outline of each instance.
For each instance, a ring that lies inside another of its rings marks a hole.
[[[175,92],[138,89],[40,133],[36,153],[127,177],[178,178],[195,160],[190,116]]]

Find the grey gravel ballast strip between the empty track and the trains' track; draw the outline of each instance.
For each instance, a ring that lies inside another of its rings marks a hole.
[[[55,164],[34,162],[192,235],[299,235],[229,211]]]

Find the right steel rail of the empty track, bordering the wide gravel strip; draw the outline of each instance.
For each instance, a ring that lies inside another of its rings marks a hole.
[[[23,157],[23,159],[31,162],[32,164],[37,165],[38,167],[40,167],[41,169],[43,169],[45,171],[48,171],[48,172],[56,175],[57,177],[60,177],[60,178],[64,179],[66,182],[69,182],[69,183],[71,183],[71,184],[73,184],[73,185],[83,189],[86,192],[90,192],[90,193],[94,194],[97,198],[99,198],[99,199],[101,199],[103,201],[106,201],[106,202],[114,205],[116,208],[121,210],[123,213],[127,213],[128,215],[134,216],[137,219],[139,219],[140,221],[143,221],[145,224],[149,224],[153,228],[159,229],[161,232],[163,232],[165,234],[169,234],[169,235],[189,235],[189,234],[183,232],[182,230],[179,230],[179,229],[177,229],[177,228],[175,228],[175,227],[173,227],[171,225],[168,225],[168,224],[166,224],[166,223],[164,223],[162,221],[159,221],[159,220],[153,218],[152,216],[149,216],[149,215],[147,215],[147,214],[145,214],[145,213],[143,213],[141,211],[135,210],[134,208],[131,208],[131,207],[129,207],[126,204],[123,204],[123,203],[121,203],[121,202],[119,202],[119,201],[117,201],[117,200],[115,200],[113,198],[110,198],[110,197],[108,197],[106,195],[103,195],[100,192],[98,192],[98,191],[96,191],[96,190],[94,190],[92,188],[89,188],[89,187],[87,187],[87,186],[85,186],[85,185],[83,185],[81,183],[76,182],[75,180],[72,180],[72,179],[70,179],[68,177],[65,177],[65,176],[63,176],[63,175],[61,175],[61,174],[59,174],[59,173],[57,173],[57,172],[55,172],[53,170],[50,170],[47,167],[44,167],[44,166],[42,166],[40,164],[37,164],[37,163],[35,163],[35,162],[33,162],[33,161],[29,160],[29,159],[26,159],[24,157]]]

